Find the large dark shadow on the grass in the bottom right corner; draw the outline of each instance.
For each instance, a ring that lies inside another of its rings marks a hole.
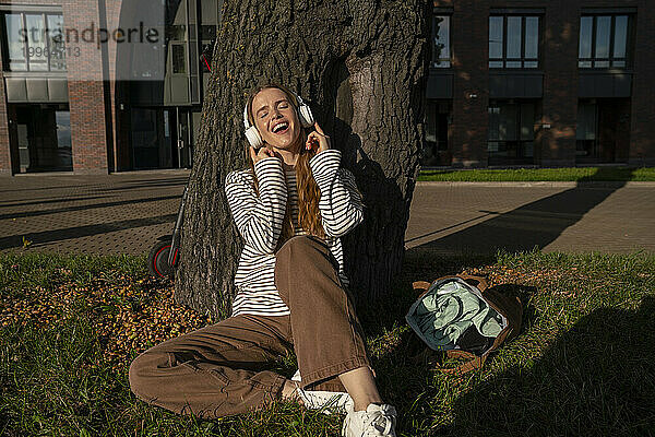
[[[581,318],[534,365],[454,403],[442,435],[655,435],[655,298]]]

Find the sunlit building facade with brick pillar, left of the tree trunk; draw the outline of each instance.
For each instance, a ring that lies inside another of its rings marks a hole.
[[[190,167],[222,0],[162,4],[0,0],[0,175]]]

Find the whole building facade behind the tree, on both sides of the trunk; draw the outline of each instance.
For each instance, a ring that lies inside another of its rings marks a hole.
[[[144,4],[0,0],[0,175],[191,166],[222,0],[145,25]],[[442,0],[431,20],[425,167],[655,165],[646,0]]]

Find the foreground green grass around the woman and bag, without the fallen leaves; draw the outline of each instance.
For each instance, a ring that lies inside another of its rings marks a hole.
[[[34,290],[49,293],[61,285],[139,284],[146,276],[143,262],[143,257],[2,255],[0,326],[1,315],[12,311],[7,302],[35,306]],[[503,284],[504,293],[522,298],[525,312],[520,336],[481,370],[458,379],[422,359],[424,347],[404,315],[416,297],[412,281],[462,271]],[[134,291],[135,298],[152,292]],[[400,412],[398,436],[646,436],[655,429],[653,255],[442,258],[412,249],[393,295],[374,304],[359,304],[359,314],[380,390]],[[338,435],[341,417],[293,403],[217,421],[150,406],[130,392],[127,367],[103,361],[106,345],[96,317],[105,316],[84,298],[58,311],[56,323],[25,317],[24,323],[0,327],[2,436]],[[129,365],[135,354],[121,359]]]

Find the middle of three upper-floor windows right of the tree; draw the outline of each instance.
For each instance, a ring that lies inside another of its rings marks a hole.
[[[537,68],[539,16],[489,16],[489,68]]]

